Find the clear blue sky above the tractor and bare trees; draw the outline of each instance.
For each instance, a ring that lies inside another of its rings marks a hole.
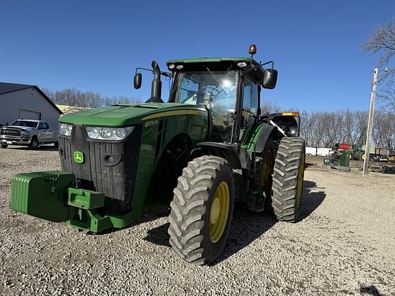
[[[145,101],[152,75],[134,90],[137,66],[248,56],[255,43],[256,60],[274,60],[279,72],[263,99],[284,109],[367,110],[377,57],[361,44],[395,16],[393,0],[154,2],[4,1],[0,82]]]

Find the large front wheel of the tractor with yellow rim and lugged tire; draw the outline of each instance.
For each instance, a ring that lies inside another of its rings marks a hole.
[[[224,249],[235,200],[232,168],[217,156],[195,158],[182,170],[169,215],[170,245],[180,258],[210,264]]]

